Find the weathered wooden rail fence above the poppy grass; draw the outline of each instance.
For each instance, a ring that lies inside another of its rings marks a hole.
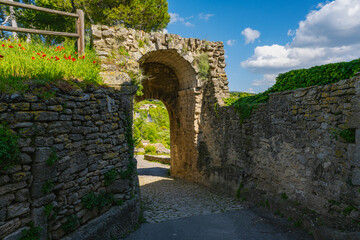
[[[84,54],[85,23],[84,23],[84,12],[82,10],[77,9],[76,13],[69,13],[69,12],[57,11],[57,10],[53,10],[53,9],[49,9],[49,8],[37,7],[34,5],[29,5],[29,4],[24,4],[24,3],[8,1],[8,0],[0,0],[0,4],[76,18],[76,33],[54,32],[54,31],[37,30],[37,29],[31,29],[31,28],[18,28],[18,27],[9,27],[9,26],[0,26],[0,30],[9,31],[9,32],[21,32],[21,33],[31,33],[31,34],[77,38],[78,39],[78,42],[77,42],[78,52],[79,52],[79,54]]]

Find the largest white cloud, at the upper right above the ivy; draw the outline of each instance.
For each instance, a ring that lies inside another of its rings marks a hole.
[[[270,76],[274,79],[280,72],[359,58],[359,12],[359,0],[327,2],[299,23],[290,43],[258,46],[241,66],[264,74],[253,83],[260,86],[271,83]]]

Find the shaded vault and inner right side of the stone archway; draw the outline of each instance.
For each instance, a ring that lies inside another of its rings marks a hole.
[[[158,50],[145,54],[140,67],[146,76],[143,95],[136,100],[161,100],[169,113],[171,172],[183,176],[197,159],[195,131],[195,91],[199,87],[196,72],[176,50]],[[186,151],[184,151],[186,149]]]

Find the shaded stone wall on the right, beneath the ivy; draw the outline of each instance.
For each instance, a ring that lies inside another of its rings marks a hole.
[[[271,94],[243,124],[233,107],[204,101],[202,113],[202,183],[360,222],[359,75]],[[345,141],[341,131],[356,132],[355,142]]]

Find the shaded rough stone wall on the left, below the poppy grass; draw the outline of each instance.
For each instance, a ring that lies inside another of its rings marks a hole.
[[[127,134],[134,92],[51,91],[48,99],[0,93],[0,121],[20,136],[21,151],[18,165],[0,170],[0,238],[17,239],[31,221],[42,239],[74,230],[82,231],[76,239],[120,236],[139,214],[136,167],[124,174],[135,161]]]

